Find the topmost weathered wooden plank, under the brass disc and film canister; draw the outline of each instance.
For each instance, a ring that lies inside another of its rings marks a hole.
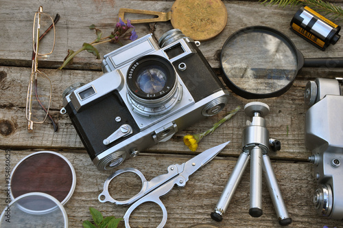
[[[297,7],[279,8],[265,6],[261,3],[251,1],[223,1],[228,11],[228,23],[223,32],[211,41],[203,42],[200,46],[206,59],[212,67],[219,67],[219,54],[224,42],[234,32],[247,26],[265,25],[273,27],[285,33],[292,39],[294,44],[305,58],[314,57],[340,57],[343,52],[343,43],[338,42],[331,45],[327,52],[319,52],[316,47],[307,43],[289,30],[289,23],[294,16]],[[173,1],[54,1],[51,4],[43,5],[45,12],[55,15],[60,14],[60,21],[56,25],[56,49],[49,60],[42,63],[47,67],[59,67],[62,60],[67,56],[67,50],[74,51],[82,46],[82,43],[90,43],[96,36],[88,26],[95,24],[104,34],[110,34],[117,23],[119,8],[147,9],[160,12],[168,12],[173,5]],[[337,3],[340,5],[340,3]],[[32,20],[35,8],[31,3],[16,4],[13,1],[3,0],[1,2],[0,23],[3,25],[3,32],[0,36],[0,63],[4,65],[26,65],[31,66],[29,61],[32,52]],[[38,9],[38,5],[36,7]],[[129,15],[130,19],[140,18],[141,15]],[[172,28],[170,22],[156,24],[154,35],[156,39]],[[136,25],[139,37],[151,32],[147,24]],[[20,44],[21,48],[18,48]],[[103,56],[108,52],[117,49],[119,45],[99,45],[98,49]],[[75,58],[73,69],[101,69],[101,60],[86,52]]]

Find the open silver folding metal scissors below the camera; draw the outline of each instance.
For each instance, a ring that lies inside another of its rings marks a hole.
[[[204,166],[206,163],[211,161],[215,156],[217,156],[217,154],[219,154],[219,152],[222,151],[229,142],[230,141],[227,141],[224,144],[220,144],[218,146],[205,150],[204,152],[200,153],[196,157],[193,157],[189,161],[182,163],[181,165],[171,165],[168,167],[167,174],[156,176],[151,181],[147,181],[144,175],[135,168],[125,168],[123,170],[118,170],[112,175],[108,176],[108,179],[106,179],[104,183],[104,191],[99,194],[98,197],[99,201],[102,203],[111,202],[115,203],[116,205],[132,204],[123,216],[126,228],[130,228],[129,218],[134,209],[136,209],[142,203],[156,203],[159,207],[161,207],[163,212],[162,221],[157,228],[162,228],[164,227],[165,223],[167,223],[167,209],[165,208],[165,205],[163,205],[160,197],[170,192],[174,185],[178,185],[178,187],[185,187],[186,182],[188,181],[188,177],[196,172],[196,170]],[[137,195],[132,196],[132,198],[126,201],[116,201],[108,193],[108,185],[110,181],[112,181],[116,176],[118,176],[119,174],[123,174],[124,172],[134,172],[135,174],[137,174],[141,178],[142,188],[141,191]]]

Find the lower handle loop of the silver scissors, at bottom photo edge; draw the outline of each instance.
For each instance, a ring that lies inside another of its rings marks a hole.
[[[145,197],[141,198],[139,201],[137,201],[134,204],[132,204],[131,207],[129,207],[129,209],[126,211],[125,215],[123,216],[126,228],[131,228],[130,227],[129,218],[131,216],[131,213],[134,211],[134,209],[136,209],[139,205],[141,205],[143,203],[147,203],[147,202],[156,203],[158,206],[161,207],[162,213],[163,213],[163,217],[162,217],[161,223],[157,226],[157,228],[163,228],[165,226],[165,223],[167,223],[167,217],[168,217],[167,209],[165,208],[165,205],[162,203],[162,201],[159,198],[159,196],[156,196],[156,197],[154,197],[154,196],[149,196],[149,197],[145,196]]]

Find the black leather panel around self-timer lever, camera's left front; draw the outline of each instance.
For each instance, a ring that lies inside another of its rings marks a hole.
[[[132,126],[132,135],[139,133],[139,126],[134,122],[132,115],[117,92],[109,93],[93,101],[80,113],[75,111],[71,102],[67,104],[65,109],[92,160],[114,144],[119,144],[126,139],[123,137],[108,145],[103,144],[104,139],[114,133],[121,125],[129,124]],[[121,121],[116,122],[115,117],[121,117]]]

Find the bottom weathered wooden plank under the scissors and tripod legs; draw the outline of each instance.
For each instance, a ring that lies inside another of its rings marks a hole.
[[[1,151],[3,155],[4,151]],[[11,164],[16,165],[32,150],[12,150]],[[82,227],[82,221],[91,220],[88,207],[95,207],[106,216],[121,217],[127,206],[99,203],[97,196],[103,190],[110,171],[99,171],[92,165],[84,152],[61,152],[73,164],[77,176],[75,192],[64,206],[69,216],[70,227]],[[191,155],[140,155],[123,163],[121,168],[133,167],[141,170],[147,180],[167,172],[167,166],[182,163]],[[230,172],[235,165],[235,159],[216,158],[190,176],[184,188],[174,187],[162,198],[167,207],[168,220],[165,227],[190,227],[196,224],[217,225],[218,227],[281,227],[276,219],[274,207],[269,192],[263,181],[263,216],[252,218],[249,209],[250,168],[248,167],[239,183],[239,187],[224,215],[222,223],[211,220],[209,214],[213,211],[220,197]],[[0,164],[5,163],[5,157],[0,157]],[[149,164],[149,166],[147,166]],[[316,184],[309,163],[273,163],[276,178],[287,205],[289,216],[293,223],[288,227],[340,227],[342,222],[320,218],[314,212],[310,192]],[[1,166],[1,173],[5,168]],[[299,175],[301,173],[301,175]],[[110,184],[110,194],[116,198],[132,196],[137,191],[138,176],[121,176]],[[5,186],[5,179],[0,178],[0,185]],[[114,187],[114,188],[113,188]],[[122,188],[121,188],[122,187]],[[112,191],[112,192],[111,192]],[[0,194],[1,208],[5,207],[5,194]],[[143,205],[132,214],[132,227],[156,227],[156,221],[161,219],[161,213],[155,205]],[[155,225],[155,226],[153,226]],[[123,227],[123,223],[119,227]]]

